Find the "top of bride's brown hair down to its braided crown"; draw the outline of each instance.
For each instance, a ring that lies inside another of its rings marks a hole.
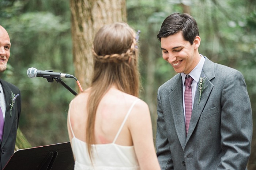
[[[135,32],[126,23],[103,26],[94,39],[93,56],[102,63],[120,63],[135,58],[138,46]]]

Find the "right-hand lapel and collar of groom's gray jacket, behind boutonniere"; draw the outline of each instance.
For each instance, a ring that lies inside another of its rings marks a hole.
[[[212,88],[214,87],[214,85],[211,83],[211,80],[215,77],[214,63],[211,62],[207,58],[204,62],[203,70],[201,72],[200,77],[206,77],[207,78],[206,82],[204,84],[204,87],[207,86],[207,85],[208,86],[202,92],[202,96],[201,96],[199,104],[198,104],[198,102],[199,102],[200,92],[196,88],[196,94],[195,94],[195,99],[194,99],[194,103],[193,103],[192,116],[191,116],[191,120],[190,120],[190,123],[189,123],[189,129],[188,129],[186,144],[187,144],[189,138],[191,137],[193,131],[195,130],[196,124],[197,124],[197,122],[200,118],[201,113],[203,112],[204,106],[207,103],[207,100],[208,100],[208,98],[211,94]]]

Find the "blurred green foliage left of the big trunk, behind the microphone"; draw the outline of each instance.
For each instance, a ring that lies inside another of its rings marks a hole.
[[[32,146],[68,141],[67,110],[74,98],[55,80],[48,83],[44,78],[30,79],[26,75],[30,67],[74,75],[70,18],[65,17],[70,15],[69,6],[58,4],[56,8],[64,11],[56,12],[53,6],[57,0],[39,2],[31,5],[31,1],[1,1],[4,5],[0,7],[0,24],[7,29],[12,43],[8,69],[1,78],[21,90],[19,127]],[[75,89],[74,79],[63,81]]]

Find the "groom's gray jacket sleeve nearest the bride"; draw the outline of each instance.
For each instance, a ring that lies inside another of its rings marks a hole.
[[[162,170],[172,170],[173,161],[169,148],[169,142],[166,135],[165,120],[163,118],[161,98],[159,89],[157,93],[157,134],[156,134],[156,150],[157,158]]]

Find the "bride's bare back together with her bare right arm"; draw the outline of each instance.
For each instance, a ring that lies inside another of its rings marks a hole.
[[[76,96],[70,109],[71,126],[76,138],[86,141],[87,99],[90,89]],[[135,96],[117,90],[114,86],[103,96],[96,112],[95,143],[112,143]],[[69,138],[73,138],[68,125]],[[150,112],[143,100],[136,102],[119,134],[117,145],[134,146],[141,169],[158,170]],[[151,160],[151,161],[150,161]]]

